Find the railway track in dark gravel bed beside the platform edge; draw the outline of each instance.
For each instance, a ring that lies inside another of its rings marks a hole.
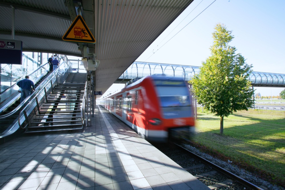
[[[258,187],[242,177],[231,173],[228,171],[228,168],[222,168],[200,157],[179,144],[173,143],[170,146],[158,144],[154,146],[202,181],[210,189],[263,190],[264,188]]]

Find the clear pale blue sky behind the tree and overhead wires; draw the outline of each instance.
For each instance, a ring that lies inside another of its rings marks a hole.
[[[210,56],[217,23],[232,31],[235,38],[230,45],[254,71],[285,74],[284,0],[194,0],[137,61],[201,66]],[[114,86],[107,91],[121,88]],[[255,89],[263,96],[274,96],[284,88]]]

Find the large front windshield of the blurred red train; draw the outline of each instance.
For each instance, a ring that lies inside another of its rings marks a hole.
[[[164,118],[191,116],[191,101],[187,86],[156,86]]]

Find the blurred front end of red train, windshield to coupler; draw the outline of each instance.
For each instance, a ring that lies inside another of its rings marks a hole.
[[[191,138],[195,133],[195,124],[188,84],[183,78],[167,76],[153,76],[153,83],[160,117],[153,118],[150,124],[165,131],[167,138]]]

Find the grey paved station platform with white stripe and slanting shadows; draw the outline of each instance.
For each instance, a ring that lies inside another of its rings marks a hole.
[[[209,189],[103,108],[84,130],[0,145],[0,189]]]

